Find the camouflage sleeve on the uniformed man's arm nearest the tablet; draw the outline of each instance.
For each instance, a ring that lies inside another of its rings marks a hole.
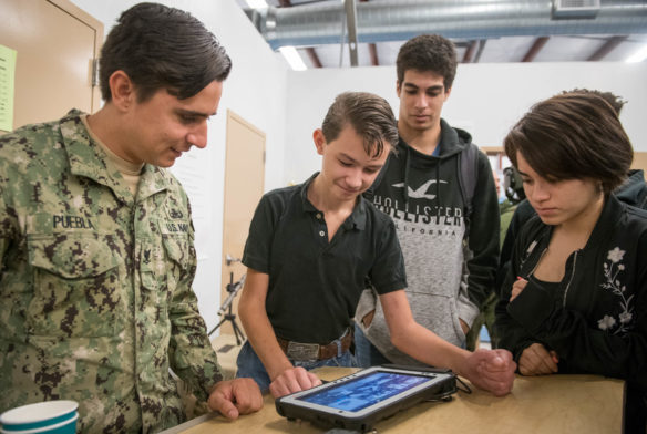
[[[173,372],[188,384],[198,400],[206,401],[212,388],[223,380],[223,375],[206,332],[206,324],[197,309],[197,298],[192,289],[197,265],[193,224],[188,250],[188,266],[181,275],[170,304],[168,356]]]

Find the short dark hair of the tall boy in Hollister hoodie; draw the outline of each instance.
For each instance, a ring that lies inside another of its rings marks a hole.
[[[398,52],[398,83],[402,84],[408,70],[431,71],[443,78],[446,91],[454,83],[456,65],[456,50],[452,41],[440,34],[421,34],[407,41]]]

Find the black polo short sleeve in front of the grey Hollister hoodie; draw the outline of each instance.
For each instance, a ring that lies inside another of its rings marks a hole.
[[[407,288],[404,258],[393,220],[387,218],[383,229],[377,232],[376,260],[369,275],[373,287],[379,294]]]

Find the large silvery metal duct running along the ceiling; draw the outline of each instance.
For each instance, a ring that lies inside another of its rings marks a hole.
[[[647,2],[600,0],[594,18],[556,19],[553,0],[391,0],[357,3],[360,43],[405,41],[421,33],[451,39],[647,33]],[[270,46],[339,43],[339,0],[261,9],[253,21]]]

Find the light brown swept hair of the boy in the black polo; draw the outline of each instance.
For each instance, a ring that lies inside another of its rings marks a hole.
[[[326,142],[335,141],[348,124],[362,137],[364,151],[371,157],[382,155],[384,143],[390,149],[398,143],[396,116],[381,96],[367,92],[339,94],[328,108],[321,126]]]

